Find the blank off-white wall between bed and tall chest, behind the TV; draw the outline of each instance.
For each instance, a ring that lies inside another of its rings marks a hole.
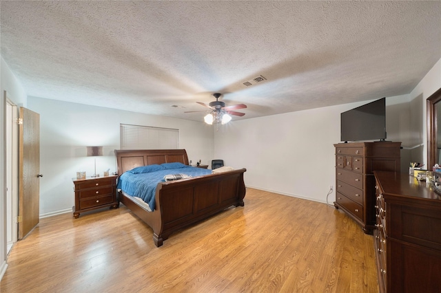
[[[249,187],[326,202],[329,186],[335,190],[333,144],[340,142],[340,113],[365,103],[236,121],[215,133],[214,155],[225,165],[245,167]],[[409,120],[408,105],[407,96],[387,98],[388,121]],[[408,140],[409,123],[389,124],[388,140]]]

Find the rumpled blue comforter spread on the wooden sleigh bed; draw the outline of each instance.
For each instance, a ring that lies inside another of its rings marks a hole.
[[[187,166],[181,163],[165,163],[161,165],[141,166],[123,173],[116,188],[127,195],[141,197],[152,210],[155,208],[154,195],[159,182],[165,182],[164,176],[185,174],[192,177],[211,174],[208,169]]]

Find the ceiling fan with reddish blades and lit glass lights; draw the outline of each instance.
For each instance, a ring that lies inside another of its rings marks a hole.
[[[232,105],[225,107],[225,102],[222,102],[218,100],[218,98],[221,96],[219,93],[213,94],[214,98],[216,98],[215,101],[210,102],[208,105],[205,104],[205,102],[197,102],[199,105],[202,105],[204,107],[207,107],[211,109],[212,111],[208,113],[205,117],[205,123],[207,124],[213,124],[213,122],[222,124],[228,123],[230,120],[232,120],[232,116],[244,116],[245,113],[236,112],[233,110],[237,109],[245,109],[247,105],[245,104],[238,104],[238,105]],[[186,111],[185,113],[192,113],[192,112],[201,112],[201,111]]]

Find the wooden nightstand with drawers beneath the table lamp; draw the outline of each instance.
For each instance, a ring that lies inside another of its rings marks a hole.
[[[106,177],[88,177],[86,179],[72,179],[75,185],[74,218],[78,219],[80,213],[96,208],[118,208],[116,199],[116,178],[110,175]]]

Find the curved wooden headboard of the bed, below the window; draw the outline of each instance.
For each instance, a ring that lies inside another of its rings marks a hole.
[[[185,149],[123,149],[115,150],[118,174],[139,166],[180,162],[188,165]]]

